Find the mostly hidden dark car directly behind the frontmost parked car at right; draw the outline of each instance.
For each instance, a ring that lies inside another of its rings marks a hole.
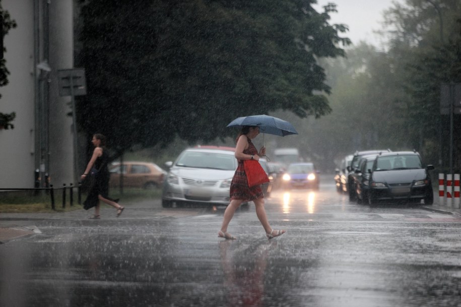
[[[357,169],[352,172],[352,178],[354,179],[354,190],[357,196],[357,203],[367,202],[368,192],[370,190],[370,171],[373,166],[373,162],[376,158],[374,155],[366,155],[360,157],[358,161]]]

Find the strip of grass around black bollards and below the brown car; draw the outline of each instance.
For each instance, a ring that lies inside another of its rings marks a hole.
[[[123,194],[118,189],[112,189],[109,196],[113,199],[120,199],[120,203],[129,203],[148,199],[157,199],[162,197],[161,189],[140,190],[140,189],[124,189]],[[82,193],[82,204],[87,197],[86,193]],[[30,195],[22,193],[5,193],[0,195],[0,213],[33,213],[33,212],[68,212],[81,210],[83,205],[78,204],[78,195],[74,191],[73,206],[70,203],[69,191],[66,195],[66,202],[62,208],[62,192],[54,191],[54,207],[51,208],[51,198],[45,192],[40,195]]]

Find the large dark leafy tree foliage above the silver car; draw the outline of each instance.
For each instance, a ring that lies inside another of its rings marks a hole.
[[[79,126],[119,152],[233,133],[237,116],[331,111],[321,57],[343,56],[344,25],[312,0],[81,1],[87,96]]]

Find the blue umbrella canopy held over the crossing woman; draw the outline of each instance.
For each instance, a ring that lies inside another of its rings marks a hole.
[[[260,133],[276,136],[298,134],[293,125],[288,121],[269,115],[251,115],[238,117],[230,122],[227,127],[258,126]]]

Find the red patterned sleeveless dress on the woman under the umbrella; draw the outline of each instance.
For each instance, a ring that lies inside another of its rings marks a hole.
[[[243,151],[243,153],[247,155],[256,155],[256,147],[254,147],[253,143],[251,143],[251,140],[249,138],[247,139],[249,146],[248,149],[245,149]],[[259,197],[264,197],[264,195],[262,194],[261,186],[254,186],[251,188],[248,187],[248,181],[246,178],[245,168],[243,166],[243,160],[238,160],[238,166],[235,170],[234,177],[231,181],[231,200],[238,199],[243,201],[252,201],[258,199]]]

